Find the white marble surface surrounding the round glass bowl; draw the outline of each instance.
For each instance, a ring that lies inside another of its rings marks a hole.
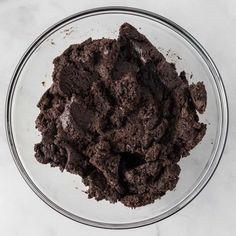
[[[68,4],[69,3],[69,4]],[[207,187],[174,216],[149,227],[111,231],[73,222],[45,205],[20,176],[4,130],[4,102],[13,70],[47,27],[75,12],[108,5],[139,7],[175,21],[201,42],[225,83],[230,130],[222,161]],[[0,0],[0,235],[235,235],[236,219],[236,1],[234,0]]]

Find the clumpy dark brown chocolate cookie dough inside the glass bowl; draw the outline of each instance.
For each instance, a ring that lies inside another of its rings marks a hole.
[[[38,103],[35,157],[82,177],[89,198],[139,207],[178,182],[181,157],[203,138],[202,82],[125,23],[118,39],[87,39],[54,60],[53,84]]]

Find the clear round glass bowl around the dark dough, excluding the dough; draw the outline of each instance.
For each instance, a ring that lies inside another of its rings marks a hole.
[[[119,26],[135,26],[176,64],[191,82],[203,81],[208,95],[207,124],[202,142],[180,161],[175,191],[155,203],[130,209],[121,203],[88,199],[81,178],[42,165],[34,158],[41,139],[35,129],[40,97],[52,83],[53,59],[70,44],[92,37],[116,38]],[[193,75],[193,76],[191,76]],[[6,101],[6,131],[14,161],[31,189],[50,207],[75,221],[102,228],[126,229],[158,222],[186,206],[207,184],[221,158],[228,128],[224,86],[203,47],[180,26],[157,14],[124,7],[106,7],[72,15],[42,33],[21,58],[13,74]]]

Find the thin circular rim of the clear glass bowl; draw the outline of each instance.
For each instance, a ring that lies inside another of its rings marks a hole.
[[[109,13],[122,13],[122,14],[131,14],[136,15],[140,17],[145,17],[150,20],[153,20],[158,23],[162,23],[163,25],[167,26],[168,28],[174,30],[176,33],[178,33],[181,37],[183,37],[185,40],[187,40],[191,46],[194,47],[194,49],[197,50],[197,52],[200,54],[200,56],[203,58],[204,62],[207,64],[208,68],[210,69],[213,78],[215,80],[215,83],[217,85],[219,97],[220,97],[220,104],[222,109],[222,128],[221,128],[221,135],[219,140],[219,145],[217,147],[216,155],[213,158],[213,161],[211,165],[209,166],[208,170],[202,177],[202,179],[199,181],[198,185],[195,186],[195,188],[184,198],[182,199],[178,205],[173,206],[165,213],[162,213],[159,216],[152,217],[150,219],[141,220],[138,222],[132,222],[132,223],[103,223],[103,222],[96,222],[93,220],[85,219],[82,217],[79,217],[75,214],[72,214],[60,206],[56,205],[53,201],[47,198],[47,196],[42,193],[41,190],[36,186],[36,184],[30,179],[29,175],[27,174],[27,171],[24,169],[23,164],[21,163],[20,157],[17,153],[17,148],[14,143],[14,137],[12,132],[12,125],[11,125],[11,108],[12,108],[12,100],[14,97],[14,90],[17,84],[17,81],[19,79],[19,76],[21,74],[22,69],[24,68],[26,62],[32,55],[32,53],[37,49],[37,47],[44,41],[45,37],[48,37],[52,33],[54,33],[56,30],[58,30],[61,26],[63,26],[66,23],[70,23],[74,20],[80,20],[84,17],[90,17],[93,15],[101,15],[101,14],[109,14]],[[209,56],[209,54],[206,52],[206,50],[203,48],[203,46],[191,35],[189,34],[185,29],[183,29],[181,26],[177,25],[173,21],[158,15],[156,13],[133,8],[133,7],[123,7],[123,6],[108,6],[108,7],[98,7],[93,8],[89,10],[85,10],[82,12],[75,13],[73,15],[70,15],[69,17],[66,17],[62,19],[61,21],[55,23],[51,27],[49,27],[47,30],[45,30],[36,40],[28,47],[26,52],[21,57],[20,61],[18,62],[9,87],[7,91],[6,96],[6,102],[5,102],[5,131],[7,136],[8,145],[13,157],[13,160],[22,175],[23,179],[26,181],[26,183],[29,185],[29,187],[33,190],[33,192],[48,206],[50,206],[52,209],[57,211],[58,213],[66,216],[69,219],[72,219],[76,222],[98,227],[98,228],[104,228],[104,229],[131,229],[131,228],[137,228],[142,226],[147,226],[156,222],[159,222],[161,220],[166,219],[167,217],[170,217],[171,215],[177,213],[179,210],[184,208],[186,205],[188,205],[193,199],[196,198],[196,196],[203,190],[203,188],[207,185],[211,177],[213,176],[220,159],[222,157],[225,144],[227,141],[227,135],[228,135],[228,126],[229,126],[229,109],[228,109],[228,101],[227,101],[227,95],[225,91],[225,87],[222,81],[222,78],[220,76],[220,73],[214,64],[213,60]],[[217,158],[216,158],[217,157]]]

